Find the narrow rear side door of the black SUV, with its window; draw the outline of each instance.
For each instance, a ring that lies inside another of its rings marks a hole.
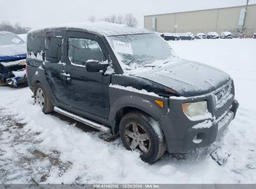
[[[60,104],[65,104],[65,90],[62,83],[62,52],[64,47],[65,32],[49,32],[45,39],[44,70],[50,90]]]

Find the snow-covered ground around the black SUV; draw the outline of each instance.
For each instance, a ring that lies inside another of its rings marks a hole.
[[[165,154],[149,165],[137,152],[125,150],[120,139],[43,114],[29,88],[1,87],[0,183],[255,183],[256,40],[169,44],[180,57],[234,78],[240,107],[221,141],[186,155]],[[212,160],[214,150],[224,164]]]

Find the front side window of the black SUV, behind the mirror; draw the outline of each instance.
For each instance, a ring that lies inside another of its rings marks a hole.
[[[88,60],[105,60],[100,45],[95,40],[69,37],[69,60],[72,65],[85,66]]]

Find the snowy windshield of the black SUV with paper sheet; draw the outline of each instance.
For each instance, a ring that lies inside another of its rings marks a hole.
[[[107,37],[123,69],[131,70],[142,66],[156,66],[161,60],[174,57],[175,53],[156,34],[133,34]]]

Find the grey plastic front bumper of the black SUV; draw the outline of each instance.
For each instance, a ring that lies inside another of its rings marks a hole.
[[[187,152],[212,144],[222,136],[222,132],[235,118],[239,103],[234,96],[217,110],[211,95],[204,96],[202,99],[207,100],[212,118],[199,121],[191,121],[184,115],[181,104],[186,103],[186,99],[169,99],[170,111],[159,119],[169,152]],[[195,98],[194,101],[202,99]],[[202,122],[207,122],[207,127],[196,127]]]

